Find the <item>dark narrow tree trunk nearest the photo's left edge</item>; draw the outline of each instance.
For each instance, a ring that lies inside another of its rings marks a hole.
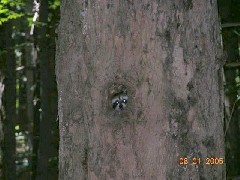
[[[4,79],[4,110],[5,119],[3,123],[3,179],[16,179],[16,141],[15,141],[15,121],[16,121],[16,59],[12,42],[12,24],[7,22],[4,29],[5,47],[7,53],[5,59],[5,79]]]

